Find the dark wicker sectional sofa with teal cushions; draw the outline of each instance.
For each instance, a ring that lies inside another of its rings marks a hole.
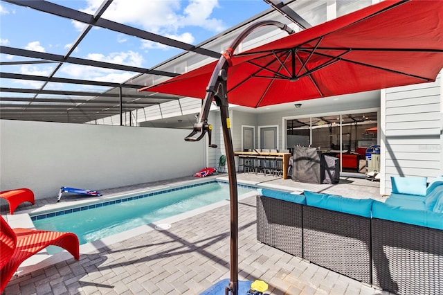
[[[443,179],[428,188],[432,210],[261,188],[257,240],[395,294],[443,294]]]

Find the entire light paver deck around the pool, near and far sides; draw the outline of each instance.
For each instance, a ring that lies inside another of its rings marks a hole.
[[[211,178],[227,180],[226,175]],[[189,181],[195,181],[195,177],[100,190],[100,193],[121,195]],[[342,177],[340,184],[319,185],[241,173],[237,181],[284,190],[383,199],[379,184],[365,179]],[[59,204],[66,206],[82,199],[66,197]],[[34,206],[21,205],[15,215],[19,219],[20,213],[53,206],[55,200],[56,197],[38,199]],[[3,206],[1,209],[2,214],[7,212]],[[264,280],[269,284],[269,294],[389,294],[257,242],[255,214],[255,197],[246,195],[239,199],[239,280]],[[22,272],[12,278],[4,294],[199,294],[219,280],[229,278],[228,201],[160,223],[171,227],[157,231],[154,224],[149,224],[118,237],[82,245],[78,261],[66,252],[54,258],[57,253],[33,265],[28,274]]]

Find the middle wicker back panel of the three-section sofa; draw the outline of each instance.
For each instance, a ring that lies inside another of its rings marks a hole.
[[[371,283],[370,218],[302,206],[303,258]]]

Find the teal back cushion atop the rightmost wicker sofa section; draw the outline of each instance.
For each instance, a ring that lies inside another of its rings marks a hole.
[[[395,207],[378,201],[372,203],[372,218],[443,229],[443,214],[441,213]]]

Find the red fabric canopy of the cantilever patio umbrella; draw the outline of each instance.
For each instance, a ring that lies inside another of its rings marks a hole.
[[[383,1],[230,58],[230,103],[261,107],[421,82],[443,66],[443,1]],[[204,98],[212,62],[145,87]]]

